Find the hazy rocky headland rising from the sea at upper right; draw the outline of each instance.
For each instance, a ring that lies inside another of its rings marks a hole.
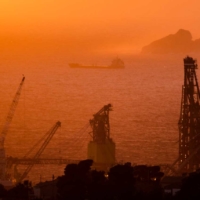
[[[192,40],[188,30],[180,29],[142,48],[142,54],[167,54],[200,52],[200,38]]]

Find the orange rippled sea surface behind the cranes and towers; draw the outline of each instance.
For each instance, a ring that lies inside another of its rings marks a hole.
[[[6,154],[23,157],[61,121],[61,128],[42,157],[85,159],[91,139],[89,120],[111,103],[111,137],[116,143],[117,161],[171,164],[178,156],[177,123],[185,56],[122,58],[124,69],[108,70],[72,69],[68,66],[71,60],[52,61],[52,58],[42,62],[1,63],[1,130],[22,76],[26,77],[6,137]],[[98,60],[97,64],[110,64],[109,59]],[[87,64],[93,63],[88,61]],[[200,77],[198,70],[197,77]],[[63,174],[64,166],[35,166],[30,177],[36,176],[38,169],[47,180],[52,174]],[[36,179],[39,180],[38,175]]]

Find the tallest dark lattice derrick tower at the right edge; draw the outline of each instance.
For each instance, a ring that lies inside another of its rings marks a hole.
[[[179,126],[179,169],[190,173],[200,167],[200,92],[196,75],[197,61],[184,58]]]

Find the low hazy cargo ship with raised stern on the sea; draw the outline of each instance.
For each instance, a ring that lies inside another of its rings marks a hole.
[[[81,65],[79,63],[69,63],[71,68],[90,68],[90,69],[122,69],[125,68],[124,62],[120,58],[115,58],[108,66],[102,65]]]

